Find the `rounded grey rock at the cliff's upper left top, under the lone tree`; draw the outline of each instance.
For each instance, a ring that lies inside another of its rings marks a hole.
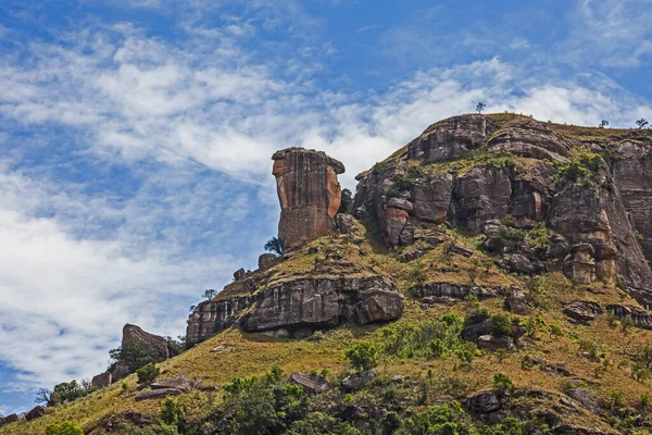
[[[481,146],[496,129],[482,115],[453,116],[430,125],[408,146],[408,158],[424,163],[455,160]]]

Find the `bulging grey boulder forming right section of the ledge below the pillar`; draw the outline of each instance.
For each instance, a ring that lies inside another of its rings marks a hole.
[[[260,291],[258,303],[239,322],[246,332],[333,327],[397,320],[403,298],[383,276],[302,278]]]

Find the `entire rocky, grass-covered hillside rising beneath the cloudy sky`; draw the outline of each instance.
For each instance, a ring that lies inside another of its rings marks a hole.
[[[283,256],[158,364],[192,381],[185,415],[162,425],[131,374],[0,435],[652,428],[652,130],[455,116],[360,174],[351,210],[341,162],[273,159]]]

